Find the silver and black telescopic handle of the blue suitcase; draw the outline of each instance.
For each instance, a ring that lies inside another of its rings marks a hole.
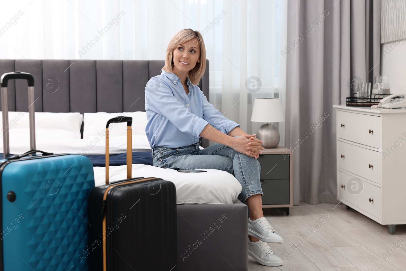
[[[34,107],[34,77],[27,72],[8,72],[1,76],[1,98],[3,111],[3,157],[10,156],[9,143],[9,104],[7,97],[7,83],[9,80],[25,79],[28,82],[28,113],[30,119],[30,149],[35,150],[35,107]]]

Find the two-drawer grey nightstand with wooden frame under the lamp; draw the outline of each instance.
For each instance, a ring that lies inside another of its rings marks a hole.
[[[293,207],[292,150],[283,146],[261,151],[262,208],[284,210]]]

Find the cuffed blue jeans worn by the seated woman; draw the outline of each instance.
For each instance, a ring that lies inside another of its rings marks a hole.
[[[261,165],[258,160],[227,145],[215,143],[203,150],[199,149],[199,143],[179,148],[156,146],[151,155],[155,167],[176,170],[219,169],[233,174],[242,186],[238,199],[245,204],[248,197],[263,195],[259,179]]]

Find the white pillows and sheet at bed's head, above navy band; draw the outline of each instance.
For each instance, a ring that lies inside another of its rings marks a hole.
[[[79,113],[48,113],[35,112],[36,149],[52,153],[71,153],[80,155],[97,155],[106,153],[105,130],[107,120],[125,113],[108,114],[85,113],[87,119]],[[132,151],[151,151],[145,134],[146,113],[127,113],[133,117]],[[84,120],[84,139],[80,139],[80,126]],[[93,126],[89,125],[90,122]],[[86,125],[87,124],[87,125]],[[110,124],[110,154],[119,154],[127,150],[126,124]],[[115,127],[120,126],[120,127]],[[2,112],[0,111],[0,127],[2,127]],[[9,141],[10,153],[22,154],[30,150],[30,130],[28,112],[9,111]],[[3,134],[0,133],[0,137]],[[0,152],[3,144],[0,143]]]

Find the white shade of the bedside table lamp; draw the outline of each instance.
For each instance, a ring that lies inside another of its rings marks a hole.
[[[255,98],[251,121],[281,122],[285,121],[282,103],[279,98]]]

